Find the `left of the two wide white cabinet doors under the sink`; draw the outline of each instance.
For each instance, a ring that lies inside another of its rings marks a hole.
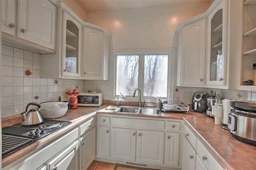
[[[111,158],[135,161],[136,129],[112,127]]]

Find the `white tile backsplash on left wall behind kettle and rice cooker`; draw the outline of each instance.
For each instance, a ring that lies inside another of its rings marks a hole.
[[[28,69],[30,76],[25,75]],[[65,92],[76,86],[84,92],[84,80],[40,78],[40,54],[8,45],[2,45],[1,86],[2,117],[20,114],[30,102],[57,100],[58,96],[66,101]]]

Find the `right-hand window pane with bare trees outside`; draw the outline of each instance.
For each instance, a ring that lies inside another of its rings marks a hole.
[[[168,55],[145,55],[144,96],[167,97]]]

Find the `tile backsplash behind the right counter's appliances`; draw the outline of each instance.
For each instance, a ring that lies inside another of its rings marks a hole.
[[[191,104],[192,97],[195,92],[208,92],[210,96],[214,96],[214,91],[218,91],[219,95],[224,98],[235,99],[244,102],[256,103],[256,92],[246,90],[224,90],[215,88],[195,88],[195,87],[175,87],[174,100]]]

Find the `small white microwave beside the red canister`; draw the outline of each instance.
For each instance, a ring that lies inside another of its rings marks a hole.
[[[101,106],[102,93],[79,93],[78,106]]]

